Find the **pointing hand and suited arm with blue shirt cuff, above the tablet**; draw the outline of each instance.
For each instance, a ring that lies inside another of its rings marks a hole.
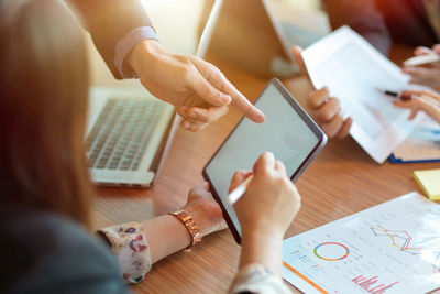
[[[116,78],[139,78],[155,97],[177,107],[182,126],[200,131],[237,107],[254,122],[260,112],[212,64],[167,52],[142,0],[65,0]]]

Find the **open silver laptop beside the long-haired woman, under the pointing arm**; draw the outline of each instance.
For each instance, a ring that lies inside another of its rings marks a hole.
[[[212,9],[209,23],[215,23],[220,8]],[[198,42],[197,56],[207,48],[209,28]],[[86,143],[92,181],[105,186],[151,187],[180,124],[175,107],[144,88],[94,87],[89,97]]]

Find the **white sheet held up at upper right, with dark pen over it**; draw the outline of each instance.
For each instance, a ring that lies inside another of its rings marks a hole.
[[[350,134],[383,163],[411,132],[408,110],[378,89],[400,91],[408,77],[349,26],[343,26],[302,52],[314,86],[327,86],[353,118]]]

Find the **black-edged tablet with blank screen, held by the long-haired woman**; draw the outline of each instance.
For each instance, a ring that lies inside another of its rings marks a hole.
[[[270,151],[295,182],[327,142],[326,134],[278,79],[267,84],[254,105],[266,116],[265,122],[243,118],[202,172],[238,243],[240,222],[227,197],[232,175],[238,170],[252,170],[258,156]]]

